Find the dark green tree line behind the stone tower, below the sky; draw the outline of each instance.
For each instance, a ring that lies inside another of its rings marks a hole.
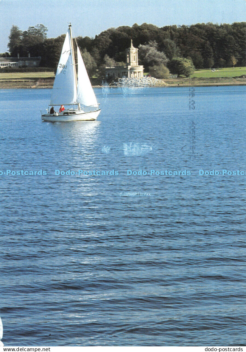
[[[22,32],[12,26],[9,34],[11,57],[41,56],[41,67],[56,69],[65,34],[47,38],[47,28],[41,24]],[[77,37],[76,41],[90,75],[103,76],[103,68],[125,64],[125,49],[131,39],[139,49],[139,64],[146,72],[168,69],[180,73],[186,68],[189,75],[194,68],[245,66],[246,22],[233,24],[198,23],[191,26],[134,24],[103,31],[95,38]],[[189,72],[188,72],[189,71]]]

